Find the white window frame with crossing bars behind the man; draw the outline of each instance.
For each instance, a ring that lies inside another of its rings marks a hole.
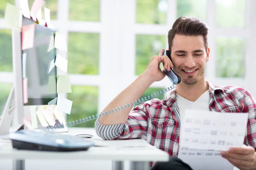
[[[17,4],[18,0],[15,0]],[[100,34],[99,44],[99,75],[69,74],[71,85],[97,86],[98,112],[123,89],[133,82],[135,75],[135,47],[136,34],[152,34],[166,36],[166,49],[168,48],[167,34],[172,24],[177,19],[177,0],[168,0],[168,11],[166,24],[138,24],[136,23],[136,0],[101,0],[100,21],[69,21],[69,0],[58,0],[57,20],[52,24],[60,34],[66,36],[68,43],[68,32],[91,32]],[[254,96],[256,89],[254,84],[254,65],[256,57],[253,57],[256,40],[256,22],[254,17],[256,11],[255,0],[246,0],[245,28],[217,28],[215,24],[215,2],[207,0],[207,23],[209,31],[210,60],[207,63],[206,79],[216,85],[237,85],[247,88]],[[65,12],[66,11],[66,12]],[[0,19],[0,29],[6,29],[4,19]],[[216,36],[243,36],[246,39],[246,73],[245,78],[216,78],[215,77],[215,38]],[[68,44],[67,44],[68,45]],[[62,57],[68,59],[66,52],[61,52]],[[157,54],[156,54],[157,55]],[[69,56],[71,57],[71,56]],[[151,56],[148,56],[151,57]],[[0,72],[0,83],[13,83],[13,74]],[[160,82],[154,82],[151,87],[166,88],[170,86],[169,79],[165,77]],[[66,96],[66,95],[64,95]],[[125,103],[124,103],[125,104]],[[82,115],[81,115],[82,116]]]

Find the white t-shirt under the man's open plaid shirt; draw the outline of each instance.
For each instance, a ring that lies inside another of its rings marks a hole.
[[[195,102],[176,94],[176,102],[180,110],[180,125],[182,126],[186,109],[209,111],[209,90],[204,92]]]

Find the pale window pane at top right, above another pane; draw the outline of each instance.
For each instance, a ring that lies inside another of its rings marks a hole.
[[[218,27],[244,27],[245,0],[216,0]]]

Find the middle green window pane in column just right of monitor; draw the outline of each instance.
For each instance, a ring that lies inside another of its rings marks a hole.
[[[68,73],[99,74],[99,34],[69,33]]]

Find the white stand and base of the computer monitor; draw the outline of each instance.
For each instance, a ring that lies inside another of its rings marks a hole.
[[[12,104],[11,108],[10,105]],[[10,108],[10,109],[9,109]],[[0,138],[4,138],[5,135],[9,136],[10,133],[10,127],[12,124],[12,119],[13,119],[13,115],[15,113],[15,95],[14,95],[14,85],[12,85],[12,89],[9,93],[6,105],[3,109],[3,114],[0,116]],[[43,130],[47,130],[47,131],[52,131],[52,132],[68,132],[69,129],[67,127],[67,125],[64,124],[60,124],[58,122],[58,120],[55,121],[58,125],[54,126],[54,127],[58,127],[58,128],[52,128],[51,126],[49,127],[41,127],[41,129]],[[17,130],[21,130],[21,129],[26,129],[26,127],[24,127],[24,125],[22,125],[20,128],[18,128]]]

